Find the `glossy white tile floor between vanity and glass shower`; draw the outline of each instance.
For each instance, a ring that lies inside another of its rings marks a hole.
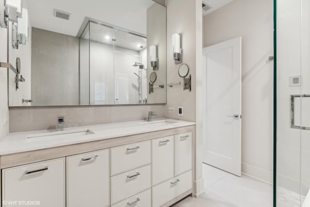
[[[187,197],[173,207],[272,207],[272,186],[203,164],[205,193]]]

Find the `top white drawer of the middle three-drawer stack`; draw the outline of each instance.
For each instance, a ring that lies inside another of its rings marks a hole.
[[[111,175],[151,163],[151,141],[111,148]]]

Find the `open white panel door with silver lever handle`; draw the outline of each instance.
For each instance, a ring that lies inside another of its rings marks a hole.
[[[203,162],[241,176],[241,37],[203,48]]]

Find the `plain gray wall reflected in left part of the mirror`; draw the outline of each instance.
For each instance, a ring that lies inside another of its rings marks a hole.
[[[32,28],[32,105],[78,105],[79,38]]]

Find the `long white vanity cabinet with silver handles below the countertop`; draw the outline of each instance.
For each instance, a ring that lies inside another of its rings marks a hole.
[[[180,127],[0,156],[2,207],[13,206],[9,201],[43,207],[171,206],[193,192],[194,130]]]

